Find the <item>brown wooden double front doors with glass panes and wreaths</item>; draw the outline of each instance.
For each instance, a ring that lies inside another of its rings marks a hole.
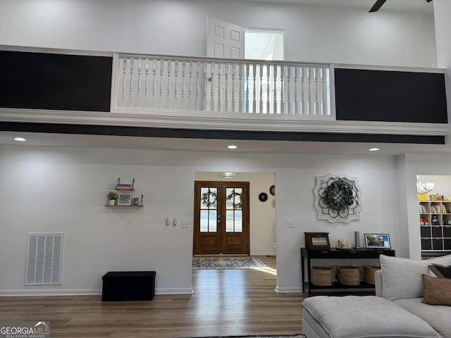
[[[249,182],[194,182],[194,255],[249,254]]]

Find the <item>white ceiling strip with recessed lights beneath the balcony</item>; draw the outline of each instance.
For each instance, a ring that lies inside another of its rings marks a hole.
[[[25,137],[16,142],[14,137]],[[0,145],[69,146],[122,149],[160,149],[179,151],[228,151],[228,144],[236,144],[240,153],[265,154],[451,154],[451,146],[430,144],[375,144],[345,142],[289,142],[227,139],[175,139],[169,137],[123,137],[78,134],[45,134],[30,132],[0,132]],[[380,151],[368,151],[377,146]]]

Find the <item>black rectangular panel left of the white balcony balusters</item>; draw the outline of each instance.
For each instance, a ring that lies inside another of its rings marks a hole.
[[[0,51],[0,106],[110,111],[113,58]]]

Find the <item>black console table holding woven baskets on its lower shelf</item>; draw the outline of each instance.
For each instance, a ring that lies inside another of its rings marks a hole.
[[[304,292],[304,272],[305,262],[307,261],[307,275],[309,276],[309,296],[312,289],[374,289],[374,285],[365,282],[357,286],[342,285],[334,282],[330,287],[319,287],[311,284],[310,270],[312,259],[362,259],[362,258],[379,258],[379,255],[395,256],[395,250],[391,249],[329,249],[329,250],[309,250],[301,248],[301,270],[302,270],[302,292]],[[364,290],[362,290],[364,291]]]

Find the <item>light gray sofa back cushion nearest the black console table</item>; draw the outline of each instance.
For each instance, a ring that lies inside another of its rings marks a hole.
[[[383,298],[416,298],[423,296],[421,274],[428,274],[428,262],[409,258],[380,256]]]

